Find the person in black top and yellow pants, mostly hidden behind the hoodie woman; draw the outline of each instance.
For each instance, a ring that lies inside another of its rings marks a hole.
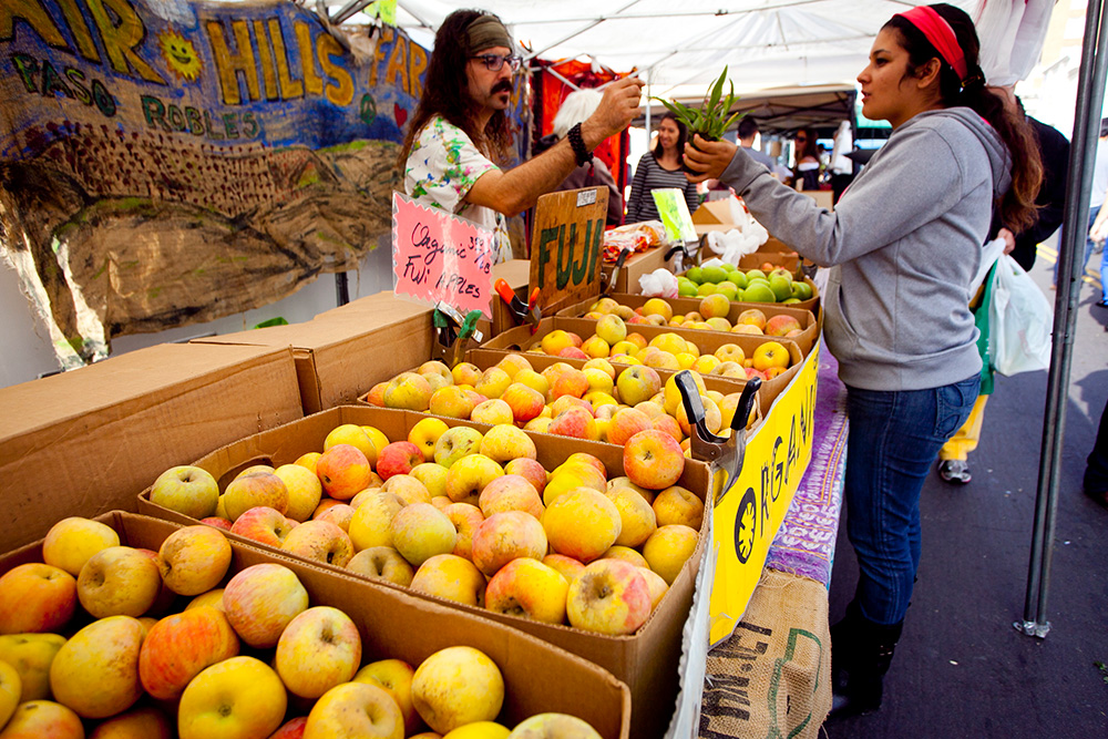
[[[1039,243],[1049,238],[1061,225],[1065,217],[1069,142],[1056,129],[1027,115],[1013,90],[1013,85],[989,88],[989,90],[1002,97],[1010,111],[1027,121],[1035,133],[1035,142],[1043,161],[1043,186],[1039,187],[1038,196],[1035,198],[1035,205],[1038,208],[1038,220],[1035,222],[1035,225],[1018,236],[1010,228],[1004,227],[998,217],[993,218],[992,226],[992,232],[995,233],[996,237],[1004,240],[1004,253],[1010,254],[1012,258],[1019,263],[1024,269],[1030,269],[1035,264],[1035,253]],[[985,284],[989,284],[992,279],[993,273],[989,271],[985,277]],[[977,444],[981,442],[982,424],[985,421],[985,403],[988,402],[988,397],[993,393],[993,368],[988,363],[988,304],[984,300],[985,284],[970,301],[970,309],[974,312],[975,321],[977,327],[982,328],[983,335],[977,342],[983,363],[981,392],[970,418],[938,450],[938,476],[945,482],[956,485],[964,485],[973,480],[973,474],[970,471],[970,453],[977,449]]]

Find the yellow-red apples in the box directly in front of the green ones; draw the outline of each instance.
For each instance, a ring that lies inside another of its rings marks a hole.
[[[646,324],[648,326],[673,326],[675,328],[691,328],[706,331],[725,331],[730,333],[750,333],[752,336],[773,336],[791,339],[803,333],[803,327],[796,316],[780,314],[772,318],[767,318],[760,308],[747,308],[739,312],[732,325],[728,316],[731,312],[731,301],[722,295],[709,295],[700,300],[699,310],[694,310],[684,315],[674,312],[674,307],[664,298],[650,298],[642,306],[632,308],[616,302],[613,298],[601,298],[592,305],[585,318],[603,320],[605,328],[597,331],[597,336],[607,342],[608,339],[616,341],[626,340],[628,324]],[[624,339],[619,339],[619,328],[612,318],[618,318],[624,325]],[[605,338],[607,337],[607,338]],[[608,343],[608,353],[617,353]],[[620,347],[625,349],[626,347]],[[588,353],[587,351],[585,352]]]

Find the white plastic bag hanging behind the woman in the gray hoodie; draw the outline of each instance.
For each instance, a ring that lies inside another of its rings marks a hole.
[[[1009,255],[996,263],[988,333],[993,366],[1001,374],[1047,369],[1054,309],[1038,285]]]

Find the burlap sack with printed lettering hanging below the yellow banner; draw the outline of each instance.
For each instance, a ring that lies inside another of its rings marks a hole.
[[[767,569],[735,634],[708,653],[700,739],[817,737],[830,709],[827,588]]]

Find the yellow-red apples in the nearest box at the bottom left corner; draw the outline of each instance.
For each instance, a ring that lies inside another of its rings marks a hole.
[[[555,725],[599,737],[564,714],[495,723],[504,678],[472,647],[414,668],[363,665],[355,622],[310,606],[288,567],[226,579],[232,547],[212,526],[179,528],[154,552],[70,517],[48,533],[42,560],[0,577],[4,739],[83,739],[85,727],[92,739],[570,736]]]

